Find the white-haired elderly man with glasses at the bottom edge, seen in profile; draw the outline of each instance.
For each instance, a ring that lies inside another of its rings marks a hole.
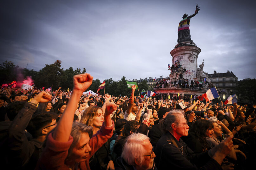
[[[122,155],[117,159],[116,170],[156,169],[155,154],[149,138],[141,133],[131,134],[124,144]]]

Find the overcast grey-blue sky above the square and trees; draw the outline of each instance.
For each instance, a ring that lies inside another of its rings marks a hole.
[[[184,13],[204,71],[256,78],[256,1],[1,1],[0,62],[40,70],[57,59],[101,81],[168,76]]]

